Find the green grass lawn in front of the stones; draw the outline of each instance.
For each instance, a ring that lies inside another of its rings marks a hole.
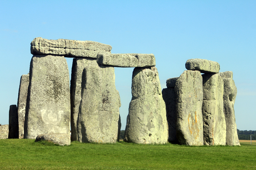
[[[31,139],[1,139],[0,169],[251,170],[256,169],[256,145],[190,147],[75,141],[62,147]]]

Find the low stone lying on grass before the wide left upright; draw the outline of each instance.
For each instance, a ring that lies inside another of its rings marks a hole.
[[[61,146],[64,146],[64,145],[68,146],[71,144],[69,134],[66,134],[66,133],[37,135],[36,142],[37,141],[52,141],[53,143],[59,144]]]

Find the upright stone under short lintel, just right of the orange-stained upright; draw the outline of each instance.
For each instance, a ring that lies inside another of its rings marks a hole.
[[[203,74],[203,143],[226,144],[223,112],[223,80],[219,74]]]

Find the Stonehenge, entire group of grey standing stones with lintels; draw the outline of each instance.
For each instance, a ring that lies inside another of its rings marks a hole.
[[[0,126],[1,138],[49,140],[62,146],[119,141],[121,99],[115,67],[135,67],[125,142],[240,145],[233,73],[219,73],[215,61],[187,60],[187,70],[167,79],[162,90],[153,54],[112,54],[111,45],[99,42],[41,37],[30,45],[30,72],[21,76],[18,107],[10,106],[9,127]],[[70,86],[66,57],[73,58]]]

